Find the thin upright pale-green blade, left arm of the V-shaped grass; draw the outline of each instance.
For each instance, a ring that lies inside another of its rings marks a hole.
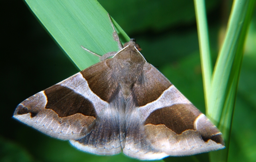
[[[205,105],[207,109],[207,101],[210,96],[211,79],[212,79],[212,61],[210,54],[210,43],[208,37],[208,27],[206,18],[206,8],[204,0],[194,0],[195,12],[196,12],[196,22],[198,28],[198,38],[199,38],[199,49],[200,49],[200,59],[202,66],[202,76],[204,83],[204,98]]]

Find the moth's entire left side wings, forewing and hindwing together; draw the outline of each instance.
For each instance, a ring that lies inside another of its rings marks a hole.
[[[118,87],[110,80],[112,73],[107,61],[26,99],[16,108],[14,118],[51,137],[72,140],[74,146],[84,151],[120,152],[122,125],[118,114],[122,112],[113,108],[111,97],[116,95]]]

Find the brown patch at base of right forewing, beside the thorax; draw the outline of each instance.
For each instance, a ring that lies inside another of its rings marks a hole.
[[[144,106],[157,100],[171,85],[161,72],[146,62],[141,79],[134,84],[132,96],[137,106]]]

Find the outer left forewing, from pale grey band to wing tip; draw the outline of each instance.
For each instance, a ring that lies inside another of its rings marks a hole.
[[[90,131],[104,105],[77,73],[20,103],[14,118],[51,137],[79,139]]]

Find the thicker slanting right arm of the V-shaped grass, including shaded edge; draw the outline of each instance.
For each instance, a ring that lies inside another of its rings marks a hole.
[[[234,103],[243,58],[243,47],[255,0],[233,3],[227,33],[212,78],[207,115],[224,135],[226,149],[210,152],[211,162],[226,162]]]

